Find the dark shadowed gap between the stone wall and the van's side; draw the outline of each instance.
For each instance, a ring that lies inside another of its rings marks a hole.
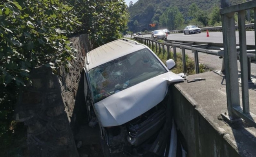
[[[75,99],[75,106],[71,117],[71,128],[75,142],[78,146],[77,150],[80,157],[103,157],[99,126],[96,125],[94,128],[91,128],[88,125],[84,97],[84,71],[81,73],[77,88],[77,97]]]

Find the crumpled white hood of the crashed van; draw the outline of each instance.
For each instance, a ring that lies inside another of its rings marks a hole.
[[[165,98],[170,83],[182,80],[182,77],[170,71],[95,103],[99,123],[107,127],[129,122],[159,104]]]

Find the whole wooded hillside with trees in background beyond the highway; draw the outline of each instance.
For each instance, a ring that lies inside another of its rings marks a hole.
[[[230,0],[230,3],[235,5],[245,1]],[[221,26],[219,9],[220,0],[138,0],[135,4],[131,1],[128,6],[128,27],[130,31],[137,32],[177,30],[187,25]],[[150,27],[152,23],[156,26]]]

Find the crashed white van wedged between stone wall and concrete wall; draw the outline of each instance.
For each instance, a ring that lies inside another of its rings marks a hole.
[[[169,71],[151,49],[119,39],[85,58],[88,119],[97,118],[106,156],[176,156],[177,135],[168,85],[182,77]]]

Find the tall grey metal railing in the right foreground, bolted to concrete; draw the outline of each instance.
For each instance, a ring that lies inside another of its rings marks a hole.
[[[246,122],[256,127],[256,115],[250,112],[249,106],[249,62],[247,53],[246,32],[245,32],[245,10],[254,9],[254,21],[256,20],[256,0],[244,2],[238,5],[229,6],[229,0],[221,0],[221,20],[223,27],[223,47],[225,60],[225,78],[227,90],[227,108],[229,115],[226,117],[232,122],[237,119],[244,119]],[[234,25],[235,13],[238,12],[238,31],[240,46],[241,64],[241,88],[242,88],[242,108],[240,106],[240,91],[238,82],[238,64],[236,62],[236,27]],[[254,33],[255,32],[254,23]],[[256,34],[255,34],[256,38]],[[255,40],[256,41],[256,40]]]

